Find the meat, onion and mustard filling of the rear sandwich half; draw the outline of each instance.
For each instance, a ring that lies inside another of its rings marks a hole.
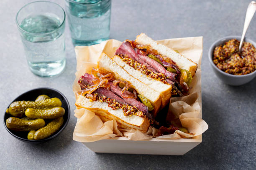
[[[127,40],[116,50],[124,62],[155,80],[172,85],[172,95],[186,95],[192,81],[191,73],[180,69],[169,57],[162,56],[150,45]]]

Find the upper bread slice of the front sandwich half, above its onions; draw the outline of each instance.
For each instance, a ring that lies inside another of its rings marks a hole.
[[[157,115],[161,107],[161,93],[145,85],[140,80],[131,76],[126,70],[112,60],[108,55],[102,53],[98,60],[98,69],[101,72],[112,72],[115,79],[127,81],[141,95],[146,97],[154,107],[152,111],[154,116]]]

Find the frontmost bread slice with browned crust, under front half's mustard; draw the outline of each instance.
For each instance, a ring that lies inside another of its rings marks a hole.
[[[133,128],[141,130],[142,132],[147,132],[150,125],[150,122],[146,117],[143,118],[136,115],[125,116],[122,109],[113,110],[111,107],[108,107],[106,102],[91,101],[82,95],[79,95],[75,105],[78,108],[82,107],[95,112],[95,114],[104,122],[107,120],[116,120],[120,128]]]

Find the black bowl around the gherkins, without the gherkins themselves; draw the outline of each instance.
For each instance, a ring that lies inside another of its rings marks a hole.
[[[36,88],[36,89],[33,89],[33,90],[29,90],[27,92],[24,92],[23,94],[21,94],[17,98],[15,98],[12,102],[22,101],[22,100],[34,101],[34,100],[36,100],[36,97],[38,97],[38,95],[48,95],[51,98],[52,97],[57,97],[61,100],[61,102],[62,102],[61,107],[63,107],[65,109],[65,114],[63,116],[64,122],[63,122],[63,125],[61,126],[61,128],[56,133],[49,136],[48,138],[45,138],[45,139],[42,139],[42,140],[28,140],[28,138],[27,138],[28,132],[19,132],[19,131],[10,130],[10,129],[7,128],[7,126],[5,124],[6,119],[8,119],[9,117],[12,117],[12,115],[5,112],[4,125],[5,125],[6,130],[11,135],[13,135],[15,138],[17,138],[18,140],[21,140],[23,142],[38,144],[38,143],[44,143],[48,140],[51,140],[51,139],[55,138],[56,136],[58,136],[66,128],[66,126],[69,122],[69,117],[70,117],[69,102],[68,102],[67,98],[61,92],[59,92],[58,90],[55,90],[53,88],[41,87],[41,88]],[[8,106],[8,108],[9,108],[9,106]],[[47,121],[46,121],[46,123],[47,123]]]

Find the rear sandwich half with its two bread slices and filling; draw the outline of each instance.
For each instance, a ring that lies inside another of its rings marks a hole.
[[[144,33],[138,35],[135,41],[123,42],[113,60],[130,75],[160,92],[162,106],[169,103],[171,96],[188,94],[197,70],[195,62]]]

